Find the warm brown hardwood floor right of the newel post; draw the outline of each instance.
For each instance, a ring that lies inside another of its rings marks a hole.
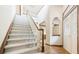
[[[63,47],[45,45],[45,54],[69,54]]]

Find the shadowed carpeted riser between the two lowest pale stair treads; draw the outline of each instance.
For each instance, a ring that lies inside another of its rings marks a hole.
[[[22,46],[17,46],[17,47],[6,48],[5,51],[10,52],[10,51],[15,51],[15,50],[19,50],[19,49],[32,48],[35,46],[37,46],[37,45],[36,44],[28,44],[28,45],[22,45]]]

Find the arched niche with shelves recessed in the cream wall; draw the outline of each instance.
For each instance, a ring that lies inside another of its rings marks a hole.
[[[59,32],[59,29],[60,29],[60,19],[58,17],[54,17],[53,19],[53,28],[52,28],[52,35],[53,36],[59,36],[60,35],[60,32]]]

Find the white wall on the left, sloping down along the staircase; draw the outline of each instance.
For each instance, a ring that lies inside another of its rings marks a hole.
[[[0,5],[0,47],[15,16],[15,6]]]

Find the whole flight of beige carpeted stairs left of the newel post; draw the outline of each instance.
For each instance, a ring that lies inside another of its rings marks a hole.
[[[14,23],[8,36],[5,54],[38,52],[36,36],[33,34],[28,22],[26,24]]]

